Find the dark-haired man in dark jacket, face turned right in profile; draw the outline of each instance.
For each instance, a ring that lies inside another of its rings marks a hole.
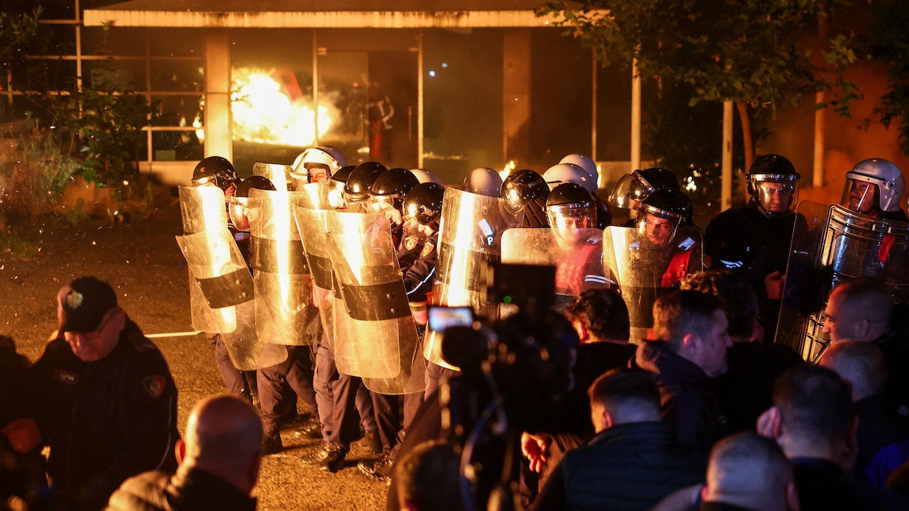
[[[711,378],[726,370],[732,345],[720,302],[697,291],[674,291],[654,304],[654,336],[638,346],[635,363],[653,373],[663,418],[680,446],[707,456],[726,420]]]

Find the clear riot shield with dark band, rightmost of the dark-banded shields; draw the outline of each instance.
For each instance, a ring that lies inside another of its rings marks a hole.
[[[421,392],[425,362],[391,231],[375,214],[329,211],[329,255],[342,302],[335,304],[335,364],[380,394]],[[343,304],[343,305],[342,305]]]

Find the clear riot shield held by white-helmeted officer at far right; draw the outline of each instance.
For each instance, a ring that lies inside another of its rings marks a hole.
[[[816,362],[830,344],[824,309],[839,283],[874,278],[894,302],[909,299],[909,224],[810,201],[796,213],[776,342]]]

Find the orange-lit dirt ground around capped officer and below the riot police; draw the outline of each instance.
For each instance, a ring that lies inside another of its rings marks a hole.
[[[56,327],[55,296],[76,276],[111,283],[120,305],[146,334],[192,330],[185,260],[175,242],[181,234],[176,199],[147,220],[73,227],[55,218],[14,227],[34,245],[34,255],[0,253],[0,334],[12,336],[20,353],[35,360]],[[0,236],[4,234],[0,233]],[[179,390],[179,425],[201,398],[225,392],[215,368],[214,347],[201,335],[155,339]],[[303,405],[300,405],[303,411]],[[307,466],[302,458],[320,441],[283,433],[285,451],[266,456],[255,495],[263,510],[372,510],[385,506],[385,484],[363,476],[356,462],[372,459],[354,446],[337,474]]]

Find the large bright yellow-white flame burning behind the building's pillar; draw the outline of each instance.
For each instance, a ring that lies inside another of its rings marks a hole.
[[[233,70],[231,113],[234,137],[261,144],[305,146],[315,143],[315,110],[302,99],[292,100],[275,80],[275,69]],[[332,125],[327,105],[319,105],[319,135]]]

